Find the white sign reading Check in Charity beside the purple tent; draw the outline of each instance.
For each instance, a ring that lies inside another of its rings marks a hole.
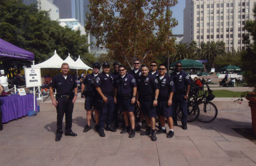
[[[34,68],[25,68],[26,87],[41,86],[41,70]]]

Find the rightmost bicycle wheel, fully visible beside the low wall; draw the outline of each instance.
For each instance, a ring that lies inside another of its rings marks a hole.
[[[218,115],[218,109],[215,104],[208,101],[205,105],[205,109],[204,104],[204,101],[198,103],[198,107],[200,109],[198,120],[205,123],[215,120]]]

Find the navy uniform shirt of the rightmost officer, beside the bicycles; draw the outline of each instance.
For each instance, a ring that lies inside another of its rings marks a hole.
[[[175,72],[172,72],[170,76],[174,80],[176,91],[183,89],[184,87],[187,87],[187,85],[190,85],[190,79],[188,74],[185,71],[180,71],[179,74]]]

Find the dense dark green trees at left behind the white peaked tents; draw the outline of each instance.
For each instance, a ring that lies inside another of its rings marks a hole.
[[[54,50],[62,59],[70,53],[73,59],[80,55],[89,65],[95,60],[93,56],[88,56],[85,35],[60,26],[58,21],[50,19],[48,11],[38,11],[35,4],[2,0],[0,9],[0,38],[33,52],[35,63],[49,59]]]

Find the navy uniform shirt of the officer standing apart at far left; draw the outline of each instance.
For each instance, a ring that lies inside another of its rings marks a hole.
[[[67,79],[65,79],[62,73],[59,73],[55,75],[50,82],[50,87],[56,88],[57,95],[70,95],[73,93],[76,86],[76,81],[70,74],[68,74]]]

